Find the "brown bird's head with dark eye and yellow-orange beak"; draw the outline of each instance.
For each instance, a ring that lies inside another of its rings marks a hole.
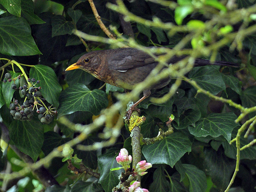
[[[73,69],[82,69],[94,76],[97,76],[97,69],[100,66],[100,57],[97,51],[82,55],[76,63],[70,65],[65,71]]]

